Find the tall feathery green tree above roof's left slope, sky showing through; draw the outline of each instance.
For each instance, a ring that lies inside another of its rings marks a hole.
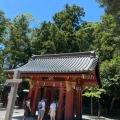
[[[31,17],[31,16],[30,16]],[[31,18],[28,14],[16,16],[9,22],[8,34],[4,50],[6,51],[6,68],[14,69],[28,62],[31,56],[29,28]]]

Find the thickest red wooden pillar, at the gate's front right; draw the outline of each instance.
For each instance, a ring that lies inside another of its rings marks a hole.
[[[66,89],[65,120],[73,120],[73,89]]]

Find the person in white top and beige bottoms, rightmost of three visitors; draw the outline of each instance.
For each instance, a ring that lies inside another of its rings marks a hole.
[[[55,101],[53,101],[50,105],[49,114],[50,114],[50,120],[55,120],[55,115],[56,115],[56,103],[55,103]]]

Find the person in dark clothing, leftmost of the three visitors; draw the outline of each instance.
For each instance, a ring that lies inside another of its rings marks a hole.
[[[24,103],[26,104],[26,107],[24,108],[23,120],[25,120],[27,117],[30,117],[30,114],[31,114],[30,100],[31,98],[28,98],[27,101]]]

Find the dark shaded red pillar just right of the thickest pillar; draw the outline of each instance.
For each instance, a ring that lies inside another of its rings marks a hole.
[[[82,91],[76,91],[76,118],[82,120]]]

